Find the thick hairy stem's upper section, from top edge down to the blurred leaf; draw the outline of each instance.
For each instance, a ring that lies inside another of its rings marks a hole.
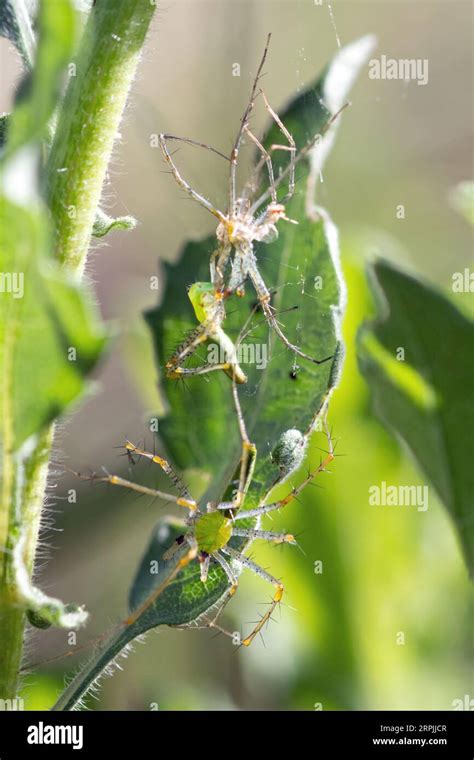
[[[48,166],[56,254],[81,274],[114,140],[150,24],[150,0],[101,0],[92,9]]]

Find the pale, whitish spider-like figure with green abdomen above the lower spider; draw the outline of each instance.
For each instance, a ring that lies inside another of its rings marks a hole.
[[[235,350],[230,338],[225,336],[225,345],[222,343],[222,336],[225,335],[222,331],[222,325],[226,317],[224,305],[225,299],[234,293],[238,296],[242,296],[244,294],[244,286],[247,279],[250,279],[255,288],[258,303],[267,323],[273,328],[287,348],[294,351],[298,356],[315,364],[323,364],[332,359],[332,356],[327,356],[324,359],[315,359],[304,353],[285,336],[276,319],[275,311],[270,304],[271,294],[260,274],[254,252],[254,243],[270,243],[275,240],[278,236],[277,223],[280,220],[297,224],[297,222],[289,219],[285,214],[285,204],[288,203],[295,190],[296,164],[308,155],[311,148],[313,148],[316,142],[323,137],[343,108],[348,104],[346,103],[336,114],[331,116],[321,131],[297,154],[296,144],[292,135],[276,112],[271,108],[265,93],[263,90],[257,92],[258,81],[267,57],[270,36],[271,35],[268,35],[263,57],[252,86],[249,104],[242,117],[240,129],[230,157],[225,156],[215,148],[204,145],[195,140],[163,133],[159,135],[163,156],[169,164],[171,172],[178,185],[185,190],[191,198],[197,201],[219,220],[216,229],[217,248],[213,252],[210,262],[211,282],[196,283],[197,286],[201,287],[197,288],[194,292],[192,292],[191,289],[189,294],[196,316],[199,320],[199,325],[186,337],[184,342],[178,346],[174,354],[167,361],[165,369],[169,378],[177,379],[192,375],[202,375],[206,372],[220,369],[224,370],[232,377],[234,374],[233,368],[235,368],[236,381],[239,383],[246,382],[246,375],[236,362]],[[255,105],[256,97],[259,94],[261,94],[270,116],[287,139],[289,143],[288,145],[274,144],[266,150],[258,138],[250,131],[249,119]],[[244,135],[257,146],[257,149],[261,153],[261,158],[255,166],[252,177],[245,184],[242,194],[237,197],[237,162]],[[230,163],[229,201],[226,213],[215,208],[181,176],[169,152],[167,144],[169,140],[179,140],[191,145],[207,148]],[[289,152],[290,160],[285,169],[280,172],[278,178],[275,179],[271,154],[277,150]],[[265,166],[267,167],[269,186],[256,200],[252,200],[253,195],[258,189],[260,175]],[[287,177],[288,191],[285,197],[281,201],[278,201],[277,189],[281,182]],[[261,207],[268,201],[268,205],[262,211]],[[228,281],[226,282],[225,270],[229,261],[231,262],[231,272]],[[202,298],[204,292],[205,301],[203,301]],[[189,359],[196,352],[198,347],[207,340],[216,341],[224,349],[226,361],[222,364],[209,363],[200,367],[184,367],[183,364],[186,360]]]

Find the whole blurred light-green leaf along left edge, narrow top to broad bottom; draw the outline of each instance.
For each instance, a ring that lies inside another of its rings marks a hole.
[[[36,65],[9,118],[1,167],[0,416],[14,451],[79,398],[105,344],[87,288],[52,260],[36,181],[38,148],[30,145],[55,108],[73,37],[70,2],[43,2]]]

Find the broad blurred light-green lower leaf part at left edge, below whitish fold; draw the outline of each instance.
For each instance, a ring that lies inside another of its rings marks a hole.
[[[14,450],[84,392],[105,345],[89,294],[49,259],[39,210],[0,197],[0,417]]]

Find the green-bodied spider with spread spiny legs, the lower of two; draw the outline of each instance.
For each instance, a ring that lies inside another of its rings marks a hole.
[[[284,441],[284,450],[280,452],[277,462],[280,468],[279,477],[268,485],[263,496],[259,499],[258,505],[252,509],[246,510],[245,497],[252,482],[257,452],[247,434],[235,380],[232,383],[232,388],[242,449],[238,468],[238,485],[230,501],[222,501],[219,503],[208,502],[204,505],[200,505],[191,496],[184,483],[174,472],[166,459],[157,454],[145,451],[139,446],[135,446],[130,441],[125,443],[126,452],[132,457],[137,456],[159,465],[172,481],[178,492],[177,495],[165,493],[154,488],[148,488],[147,486],[134,483],[130,480],[125,480],[124,478],[112,475],[106,471],[104,476],[97,476],[95,474],[92,476],[79,475],[79,477],[86,480],[110,483],[112,485],[131,489],[140,494],[164,499],[167,502],[175,503],[188,510],[188,517],[184,521],[183,535],[171,547],[171,549],[168,550],[165,559],[171,559],[177,551],[182,553],[183,545],[185,546],[186,551],[181,554],[175,568],[166,576],[161,584],[154,589],[153,593],[150,594],[145,601],[123,621],[122,625],[124,626],[133,625],[140,616],[146,612],[150,605],[157,600],[180,571],[187,567],[192,561],[199,561],[200,577],[203,583],[207,580],[211,563],[217,563],[220,565],[229,580],[228,590],[218,602],[217,614],[215,614],[211,620],[206,619],[202,625],[199,621],[196,622],[193,627],[215,628],[221,633],[234,638],[235,634],[222,628],[219,625],[218,620],[224,607],[237,591],[237,575],[240,569],[250,570],[259,578],[271,584],[275,589],[267,611],[261,616],[252,631],[239,642],[240,644],[243,646],[249,646],[252,643],[254,638],[270,620],[275,607],[282,599],[284,587],[281,581],[246,557],[243,552],[238,552],[229,546],[229,541],[232,537],[238,536],[247,539],[249,543],[260,539],[274,544],[296,544],[294,536],[289,533],[277,533],[262,530],[260,528],[260,521],[264,515],[282,509],[292,502],[308,483],[310,483],[319,473],[326,470],[327,466],[334,459],[334,447],[325,421],[326,402],[323,402],[306,433],[302,434],[299,431],[290,430],[282,436],[280,441]],[[306,444],[311,433],[315,429],[316,420],[320,417],[323,419],[324,430],[328,441],[328,449],[324,460],[320,462],[319,467],[314,471],[309,471],[304,480],[297,487],[291,488],[285,497],[278,501],[266,504],[266,500],[273,488],[277,484],[283,483],[301,464],[306,452]],[[250,521],[251,527],[239,528],[239,521],[241,520]],[[193,624],[188,624],[185,627],[189,627],[189,625]]]

